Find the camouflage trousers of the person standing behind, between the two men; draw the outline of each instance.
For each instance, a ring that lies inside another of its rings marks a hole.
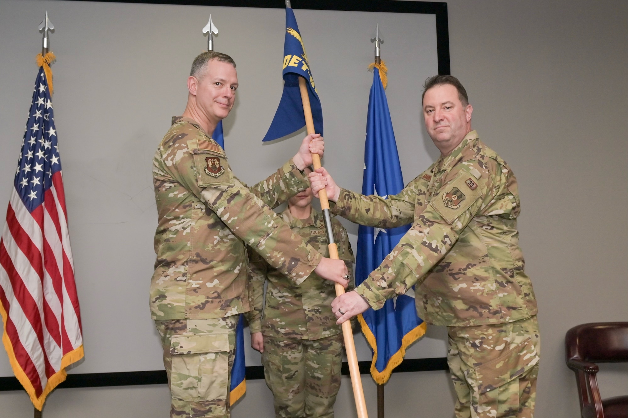
[[[340,389],[342,334],[300,340],[264,335],[264,377],[278,418],[333,418]]]

